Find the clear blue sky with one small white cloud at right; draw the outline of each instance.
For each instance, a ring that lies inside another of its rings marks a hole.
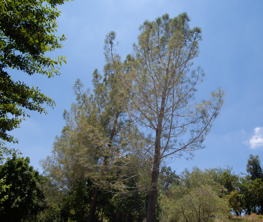
[[[220,116],[205,140],[207,148],[195,151],[193,160],[175,159],[173,170],[233,165],[236,173],[246,172],[250,154],[259,155],[263,163],[262,1],[74,0],[58,8],[62,13],[57,19],[56,35],[64,33],[67,40],[62,43],[63,49],[52,56],[67,56],[67,64],[60,69],[62,74],[48,79],[9,71],[12,78],[38,86],[57,103],[54,110],[47,108],[47,115],[29,112],[31,118],[11,132],[19,139],[19,144],[11,147],[29,156],[31,165],[43,171],[38,161],[50,154],[54,138],[65,124],[62,114],[75,100],[74,81],[79,78],[91,88],[94,69],[102,71],[105,35],[112,30],[117,32],[118,53],[125,58],[132,52],[138,27],[145,19],[154,20],[165,13],[175,17],[182,12],[190,16],[191,27],[203,30],[201,53],[194,62],[205,69],[206,76],[199,85],[197,100],[209,98],[209,93],[219,86],[227,94]]]

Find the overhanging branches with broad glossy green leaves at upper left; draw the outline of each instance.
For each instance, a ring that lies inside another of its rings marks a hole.
[[[24,109],[46,113],[43,104],[54,107],[55,102],[23,82],[15,82],[7,68],[28,75],[39,73],[48,78],[59,75],[59,66],[65,57],[52,59],[45,54],[62,48],[64,35],[57,37],[56,6],[69,0],[6,0],[0,1],[0,161],[15,152],[5,142],[18,140],[8,132],[19,127],[25,116]],[[46,4],[44,4],[46,3]]]

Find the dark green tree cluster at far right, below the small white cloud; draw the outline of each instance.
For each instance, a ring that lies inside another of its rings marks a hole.
[[[249,175],[240,177],[232,173],[232,168],[218,167],[211,170],[213,178],[226,188],[229,206],[236,215],[257,213],[262,214],[262,168],[259,156],[250,155],[247,160]]]

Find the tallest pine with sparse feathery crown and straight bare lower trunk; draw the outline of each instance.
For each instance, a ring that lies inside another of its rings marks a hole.
[[[205,74],[201,67],[192,68],[202,37],[201,29],[191,29],[189,21],[186,13],[146,20],[140,26],[138,45],[134,44],[133,59],[127,61],[131,67],[128,75],[118,73],[122,94],[130,101],[125,107],[127,116],[138,139],[145,142],[140,156],[148,157],[147,222],[155,218],[160,164],[169,162],[171,156],[188,153],[191,158],[194,150],[204,148],[205,137],[224,102],[222,89],[212,92],[209,100],[193,101]],[[112,63],[115,38],[111,32],[106,39],[106,56]]]

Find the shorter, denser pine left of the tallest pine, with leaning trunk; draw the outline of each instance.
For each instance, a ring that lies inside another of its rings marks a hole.
[[[53,155],[42,161],[42,166],[52,178],[60,181],[62,188],[73,187],[72,182],[75,183],[78,176],[84,175],[93,181],[95,191],[88,221],[94,220],[100,189],[117,192],[126,187],[123,179],[120,182],[117,179],[119,165],[126,164],[123,160],[129,147],[121,134],[130,130],[129,121],[123,115],[127,99],[119,93],[116,75],[116,72],[124,72],[120,59],[115,55],[115,64],[105,64],[104,77],[95,69],[93,92],[83,90],[84,85],[76,80],[73,87],[76,102],[69,111],[64,111],[66,126],[56,138]]]

